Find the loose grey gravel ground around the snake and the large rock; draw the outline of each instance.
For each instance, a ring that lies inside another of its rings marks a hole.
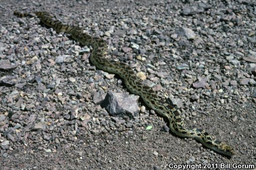
[[[255,165],[253,0],[1,0],[0,9],[0,169]],[[181,108],[188,127],[207,129],[236,155],[173,135],[141,100],[133,118],[109,114],[95,92],[126,93],[120,78],[89,62],[90,47],[14,10],[49,11],[102,37],[110,57]]]

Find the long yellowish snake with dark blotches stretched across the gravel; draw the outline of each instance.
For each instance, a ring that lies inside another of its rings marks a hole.
[[[14,15],[18,17],[34,17],[35,15],[46,26],[52,27],[56,33],[70,34],[72,39],[78,41],[80,45],[91,46],[93,48],[90,53],[91,63],[100,70],[118,74],[124,80],[124,84],[130,92],[139,95],[147,107],[150,107],[159,115],[168,119],[167,122],[169,122],[169,129],[172,133],[179,137],[195,139],[220,155],[231,157],[235,154],[232,146],[225,142],[215,140],[205,130],[184,127],[180,109],[163,101],[151,87],[143,85],[132,67],[128,64],[106,58],[108,44],[101,37],[93,37],[77,26],[63,24],[46,11],[37,11],[34,13],[14,11]]]

